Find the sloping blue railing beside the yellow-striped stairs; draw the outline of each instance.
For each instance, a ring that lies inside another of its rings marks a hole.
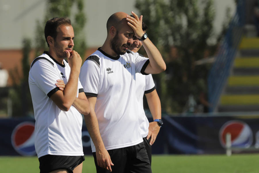
[[[216,60],[208,76],[208,100],[211,103],[209,112],[214,112],[223,87],[229,76],[231,65],[239,46],[245,24],[245,0],[239,0],[235,16],[231,20],[226,35],[220,45]]]

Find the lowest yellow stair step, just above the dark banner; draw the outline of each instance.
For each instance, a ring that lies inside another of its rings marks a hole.
[[[222,95],[221,105],[258,105],[259,95]]]

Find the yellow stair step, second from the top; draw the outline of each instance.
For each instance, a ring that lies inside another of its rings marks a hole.
[[[259,67],[259,57],[236,58],[234,67]]]

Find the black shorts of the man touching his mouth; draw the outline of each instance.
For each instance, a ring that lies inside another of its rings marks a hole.
[[[65,169],[69,173],[73,173],[75,167],[80,165],[84,160],[84,156],[45,155],[39,158],[40,173],[48,173],[59,169]]]

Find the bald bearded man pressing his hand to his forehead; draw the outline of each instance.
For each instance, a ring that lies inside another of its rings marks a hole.
[[[80,70],[80,81],[90,104],[87,128],[100,172],[151,172],[140,134],[136,101],[136,73],[157,74],[166,65],[142,30],[142,16],[111,15],[107,37]],[[148,58],[128,50],[133,37],[141,40]]]

